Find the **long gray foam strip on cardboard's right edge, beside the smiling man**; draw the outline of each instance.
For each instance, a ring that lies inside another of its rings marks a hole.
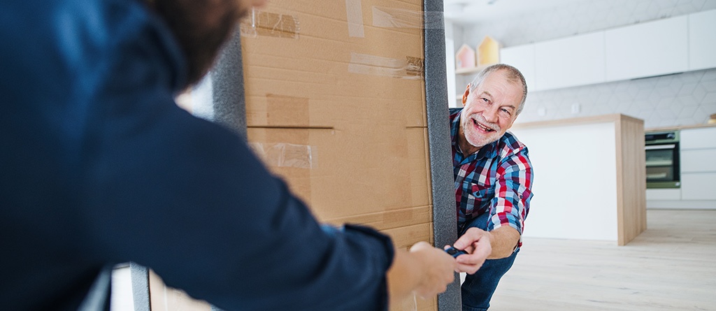
[[[444,24],[442,0],[425,0],[425,20]],[[430,144],[430,176],[432,179],[432,221],[435,246],[453,244],[458,239],[455,218],[455,180],[450,147],[448,82],[445,68],[445,30],[425,26],[425,97],[427,101],[427,137]],[[437,310],[461,310],[460,276],[437,296]]]

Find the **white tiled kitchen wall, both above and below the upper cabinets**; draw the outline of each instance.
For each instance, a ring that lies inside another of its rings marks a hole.
[[[504,47],[517,46],[710,9],[716,9],[716,0],[580,0],[513,18],[455,26],[453,36],[458,45],[475,45],[490,35]],[[470,79],[458,76],[459,93]],[[574,107],[579,112],[573,113]],[[644,119],[647,129],[705,123],[716,114],[716,69],[530,92],[517,122],[614,113]]]

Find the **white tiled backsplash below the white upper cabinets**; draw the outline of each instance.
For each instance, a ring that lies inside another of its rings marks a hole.
[[[647,129],[703,124],[716,114],[716,69],[530,92],[517,122],[615,113],[643,119]]]

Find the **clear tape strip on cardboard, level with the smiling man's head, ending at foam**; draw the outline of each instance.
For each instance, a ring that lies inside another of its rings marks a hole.
[[[390,76],[392,78],[419,80],[423,79],[425,61],[420,57],[406,56],[403,59],[351,53],[348,72],[372,76]]]

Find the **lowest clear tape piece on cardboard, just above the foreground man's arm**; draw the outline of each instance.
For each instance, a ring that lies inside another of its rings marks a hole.
[[[250,142],[248,146],[269,167],[318,168],[318,148],[316,146],[260,142]]]

